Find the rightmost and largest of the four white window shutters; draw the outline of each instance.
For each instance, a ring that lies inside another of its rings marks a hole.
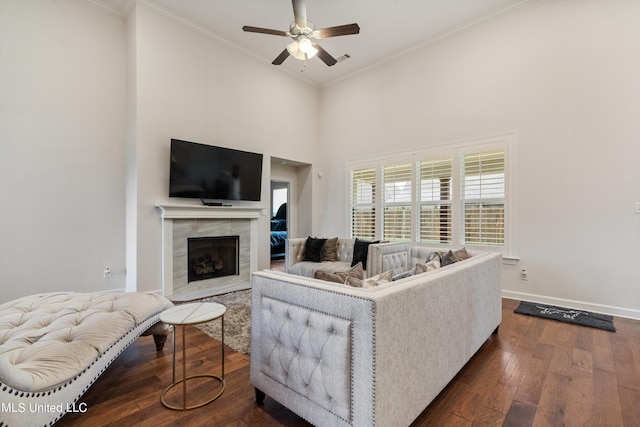
[[[504,246],[504,151],[466,154],[461,164],[462,244]]]

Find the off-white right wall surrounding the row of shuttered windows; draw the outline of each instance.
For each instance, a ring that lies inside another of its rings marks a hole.
[[[529,2],[325,88],[320,234],[347,229],[346,160],[515,131],[505,295],[640,318],[638,22],[635,1]]]

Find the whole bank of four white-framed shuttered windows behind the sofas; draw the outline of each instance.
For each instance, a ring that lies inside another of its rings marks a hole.
[[[402,160],[378,159],[366,168],[347,164],[351,237],[470,246],[511,256],[510,141],[510,135],[501,135]]]

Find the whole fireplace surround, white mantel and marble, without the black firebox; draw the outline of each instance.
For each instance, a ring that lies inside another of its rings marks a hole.
[[[162,218],[162,290],[174,301],[188,301],[249,289],[258,263],[258,218],[264,208],[156,205]],[[189,237],[240,236],[240,274],[187,283]]]

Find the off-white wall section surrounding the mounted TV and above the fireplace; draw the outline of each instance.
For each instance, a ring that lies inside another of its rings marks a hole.
[[[263,153],[262,201],[254,205],[265,208],[258,267],[267,268],[270,158],[314,161],[318,89],[147,6],[136,7],[135,19],[137,274],[129,279],[137,290],[160,287],[154,205],[200,203],[168,198],[171,138]]]

